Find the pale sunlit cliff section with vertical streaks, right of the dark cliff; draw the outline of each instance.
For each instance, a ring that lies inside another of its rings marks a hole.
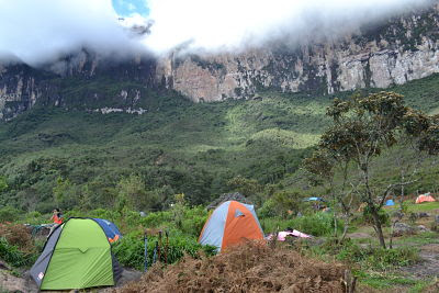
[[[193,101],[247,98],[258,88],[334,93],[386,88],[439,72],[439,5],[341,40],[239,55],[161,60],[168,87]]]

